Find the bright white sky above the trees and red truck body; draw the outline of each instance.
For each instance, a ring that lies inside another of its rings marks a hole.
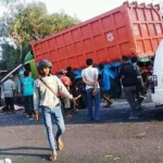
[[[24,0],[29,1],[29,0]],[[32,0],[38,1],[38,0]],[[126,0],[39,0],[47,4],[49,13],[60,12],[64,10],[66,14],[76,15],[80,21],[87,21],[91,17],[100,15],[106,11],[120,7]],[[128,0],[129,2],[134,0]],[[137,0],[138,3],[145,2],[159,3],[161,0]],[[0,7],[0,15],[3,12],[3,8]]]

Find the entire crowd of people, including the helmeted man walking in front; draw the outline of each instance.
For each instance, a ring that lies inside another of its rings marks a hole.
[[[101,120],[101,98],[106,104],[104,108],[111,108],[111,79],[115,76],[104,68],[103,64],[99,67],[93,66],[93,60],[86,60],[87,67],[82,71],[80,83],[75,83],[75,74],[68,66],[62,70],[60,74],[52,75],[52,63],[48,60],[41,60],[37,63],[39,77],[34,80],[30,72],[25,71],[20,78],[20,92],[24,101],[25,116],[39,120],[39,110],[42,112],[45,127],[47,130],[48,141],[51,149],[50,160],[55,161],[58,150],[62,150],[64,143],[62,135],[65,130],[64,118],[72,117],[72,113],[77,112],[82,91],[87,97],[87,118],[88,121],[99,122]],[[100,73],[99,73],[100,72]],[[100,74],[100,75],[99,75]],[[128,104],[130,105],[129,118],[138,118],[138,112],[143,110],[141,105],[147,96],[149,76],[152,74],[147,66],[140,67],[137,64],[137,58],[129,59],[127,55],[122,57],[122,66],[117,77],[121,80],[122,89]],[[1,98],[5,101],[7,112],[14,111],[15,86],[13,75],[1,86]],[[63,114],[62,114],[63,113]],[[57,135],[53,136],[52,118],[58,126]]]

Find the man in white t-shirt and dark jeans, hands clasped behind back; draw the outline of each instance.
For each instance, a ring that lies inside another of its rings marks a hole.
[[[87,90],[87,108],[88,120],[100,121],[100,87],[98,83],[98,70],[92,67],[92,59],[86,60],[87,67],[83,70],[82,77],[86,84]],[[95,104],[95,114],[92,111],[92,104]]]

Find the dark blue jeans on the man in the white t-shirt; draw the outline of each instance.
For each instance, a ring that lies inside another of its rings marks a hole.
[[[88,120],[99,121],[100,120],[100,89],[97,95],[92,96],[93,88],[87,89],[87,108],[88,108]],[[95,104],[95,113],[92,105]]]

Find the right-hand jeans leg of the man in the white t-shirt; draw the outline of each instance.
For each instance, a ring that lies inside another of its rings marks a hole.
[[[95,121],[99,121],[101,118],[100,116],[100,89],[98,89],[97,95],[95,96]]]

